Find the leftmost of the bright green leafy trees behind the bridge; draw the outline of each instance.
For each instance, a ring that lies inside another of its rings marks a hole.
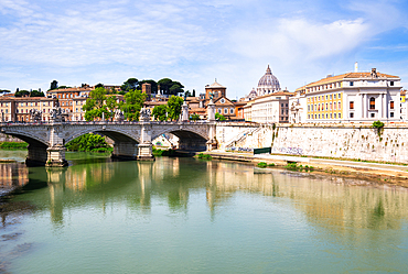
[[[85,120],[86,121],[94,121],[97,118],[103,118],[103,113],[105,113],[105,118],[110,118],[110,112],[107,110],[105,105],[106,100],[106,89],[105,88],[96,88],[89,92],[89,98],[86,99],[86,102],[83,107],[85,110]]]

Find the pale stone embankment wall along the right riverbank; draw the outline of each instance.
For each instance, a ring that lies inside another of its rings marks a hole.
[[[408,127],[388,125],[378,134],[371,125],[262,125],[237,146],[272,146],[272,153],[408,164]]]

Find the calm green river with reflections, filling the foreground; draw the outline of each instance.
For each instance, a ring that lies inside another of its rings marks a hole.
[[[0,273],[408,270],[406,188],[233,162],[67,158],[0,165],[17,187],[2,205]]]

